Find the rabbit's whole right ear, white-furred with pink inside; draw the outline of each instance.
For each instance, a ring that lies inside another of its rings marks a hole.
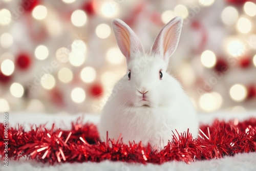
[[[165,61],[174,53],[178,46],[182,28],[182,17],[177,16],[167,23],[157,35],[151,54],[161,56]]]

